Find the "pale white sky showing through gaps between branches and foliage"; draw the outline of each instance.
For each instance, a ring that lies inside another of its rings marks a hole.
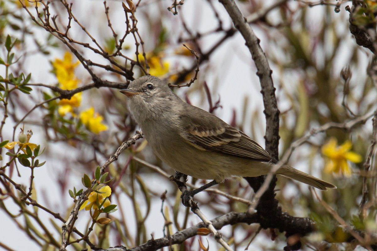
[[[100,19],[97,17],[101,17],[104,12],[104,7],[103,7],[103,1],[100,0],[80,0],[80,1],[73,1],[73,11],[76,14],[76,17],[82,21],[82,24],[87,27],[91,27],[90,33],[98,39],[99,42],[101,41],[101,38],[103,38],[103,34],[110,35],[109,33],[109,28],[107,27],[106,19]],[[161,6],[161,9],[163,11],[166,11],[166,8],[171,5],[172,1],[162,1],[159,3]],[[181,15],[184,13],[184,18],[189,25],[191,29],[197,28],[198,31],[204,32],[206,30],[211,30],[211,28],[214,28],[217,26],[217,20],[213,16],[213,12],[208,8],[208,4],[205,1],[201,1],[201,4],[198,4],[199,1],[186,1],[184,3],[183,8],[179,9],[179,14]],[[269,3],[272,1],[268,1]],[[218,2],[214,1],[214,5],[216,6],[217,11],[219,12],[221,19],[224,21],[224,26],[225,28],[230,27],[231,22],[228,18],[227,13],[225,12],[224,8],[222,5],[220,5]],[[268,6],[269,3],[264,3],[264,6]],[[115,30],[118,30],[118,34],[122,34],[122,30],[124,29],[124,12],[123,8],[121,8],[121,2],[120,1],[108,1],[107,2],[108,6],[110,7],[110,17],[112,20],[112,25]],[[246,6],[246,5],[243,5]],[[139,20],[138,23],[138,28],[139,32],[143,38],[143,40],[146,42],[146,49],[153,49],[151,46],[153,44],[148,42],[148,27],[143,27],[143,15],[141,15],[141,12],[143,11],[153,11],[155,7],[152,5],[150,6],[145,6],[142,8],[139,8],[138,11],[136,12],[136,17]],[[308,9],[308,18],[313,20],[313,25],[319,24],[321,17],[321,9],[323,6],[317,6],[311,9]],[[21,10],[23,15],[26,15],[25,11]],[[159,11],[156,11],[154,9],[154,12],[157,15],[159,15]],[[207,15],[207,13],[210,13]],[[341,8],[341,13],[336,14],[337,16],[341,17],[343,19],[343,24],[344,26],[340,26],[340,32],[349,32],[348,31],[348,15],[346,15],[344,8]],[[173,16],[172,14],[170,15],[170,20],[169,22],[178,22],[179,17],[178,16]],[[62,19],[64,17],[61,17]],[[122,20],[121,22],[117,22],[116,20]],[[178,26],[178,25],[177,25]],[[174,25],[169,24],[167,27],[174,27]],[[267,38],[265,38],[264,33],[259,30],[258,27],[252,26],[254,29],[254,32],[256,33],[257,37],[261,39],[261,46],[265,50],[266,53],[269,53],[270,51],[273,51],[274,48],[266,48],[265,45],[268,44],[268,41],[266,41]],[[96,29],[93,29],[96,28]],[[178,27],[177,27],[178,29]],[[46,37],[45,36],[45,31],[38,29],[35,30],[36,32],[43,34],[41,35],[41,38]],[[83,34],[81,30],[76,30],[78,31],[77,34]],[[178,33],[178,32],[177,32]],[[71,33],[73,37],[76,36],[75,33]],[[177,34],[178,37],[178,34]],[[203,45],[204,51],[206,51],[205,48],[210,46],[210,42],[214,39],[214,36],[210,36],[207,38],[204,38],[201,42]],[[82,37],[81,37],[82,38]],[[81,41],[80,36],[77,37],[77,40]],[[174,39],[174,38],[171,38]],[[133,41],[131,41],[133,44]],[[263,105],[262,105],[262,96],[260,94],[260,85],[259,85],[259,79],[256,76],[256,70],[253,65],[253,62],[250,57],[250,52],[248,51],[247,47],[244,46],[244,40],[241,37],[241,35],[237,34],[234,35],[232,38],[228,39],[218,50],[216,50],[215,53],[211,56],[211,59],[208,64],[205,64],[201,67],[203,68],[211,68],[211,70],[205,71],[204,69],[199,71],[199,78],[205,79],[210,86],[210,90],[213,91],[213,101],[216,101],[218,98],[218,95],[221,97],[221,105],[223,106],[222,109],[218,109],[216,111],[216,115],[222,118],[225,122],[230,122],[231,120],[231,114],[232,114],[232,109],[234,108],[236,111],[238,111],[238,122],[241,121],[241,112],[242,111],[242,106],[244,102],[244,97],[248,97],[248,113],[247,117],[245,118],[245,121],[248,123],[251,121],[251,114],[253,114],[254,110],[258,110],[260,117],[255,118],[253,117],[253,120],[260,120],[261,122],[259,124],[262,125],[261,129],[262,132],[264,132],[264,125],[265,125],[265,119],[263,117]],[[353,44],[354,38],[349,35],[348,40],[344,41],[342,46],[344,46],[344,53],[338,55],[338,60],[339,62],[347,62],[348,57],[349,57],[349,52],[347,51],[347,44]],[[131,45],[132,45],[131,44]],[[64,47],[63,47],[64,48]],[[65,49],[65,48],[64,48]],[[64,49],[61,50],[51,50],[53,53],[50,55],[49,58],[45,56],[34,56],[30,57],[28,59],[28,71],[32,73],[32,80],[31,82],[41,82],[43,84],[51,84],[54,85],[57,83],[57,80],[54,75],[46,71],[47,69],[51,69],[51,66],[49,65],[48,60],[54,60],[55,57],[62,58],[64,54]],[[3,49],[0,50],[0,53],[3,53]],[[133,50],[130,50],[131,52]],[[4,54],[0,54],[1,57],[4,56]],[[93,55],[95,57],[95,55]],[[95,58],[97,59],[97,58]],[[93,59],[93,61],[95,61]],[[354,76],[358,76],[359,79],[365,78],[365,66],[368,64],[368,58],[366,57],[366,54],[360,53],[360,65],[358,69],[354,69]],[[191,62],[190,62],[191,64]],[[278,72],[277,69],[274,68],[273,65],[271,65],[273,68],[274,72]],[[340,69],[344,67],[342,63],[339,65],[336,65],[336,69],[334,69],[334,72],[340,72]],[[207,73],[207,75],[203,75],[203,73]],[[4,75],[4,67],[0,67],[0,75]],[[77,74],[78,78],[83,80],[83,84],[86,84],[85,79],[87,79],[87,83],[90,82],[90,79],[88,78],[88,74],[86,71],[81,67],[81,69],[78,70]],[[274,77],[274,74],[273,74]],[[286,76],[287,79],[292,79],[292,88],[294,88],[295,82],[297,81],[297,76],[290,75],[290,73],[287,73]],[[112,80],[112,79],[107,79],[107,80]],[[277,86],[278,82],[277,79],[274,79],[275,85]],[[193,85],[197,84],[195,82]],[[214,87],[216,83],[216,87]],[[352,79],[351,81],[351,86],[355,84],[355,79]],[[101,88],[99,91],[104,91],[104,88]],[[184,93],[186,90],[185,88],[181,88],[178,90],[178,94],[183,97],[182,93]],[[215,91],[215,92],[214,92]],[[279,90],[277,90],[277,95],[279,95]],[[84,94],[83,97],[87,94]],[[194,96],[195,93],[193,93],[190,97],[190,100],[194,105],[201,106],[203,109],[207,110],[208,105],[207,103],[201,103],[199,98]],[[83,104],[86,102],[85,98],[83,98]],[[95,100],[93,101],[95,103]],[[99,106],[101,106],[99,104]],[[279,108],[280,110],[285,110],[287,105],[283,102],[279,103]],[[11,137],[12,135],[12,128],[11,128],[11,120],[9,119],[6,124],[5,128],[5,137]],[[247,123],[247,124],[248,124]],[[112,126],[112,125],[109,125]],[[28,128],[29,129],[29,128]],[[32,128],[34,135],[32,137],[32,142],[39,141],[43,142],[43,132],[38,131],[38,128]],[[251,129],[249,127],[245,127],[244,131],[246,134],[251,133]],[[17,130],[18,133],[18,130]],[[254,139],[260,143],[262,146],[264,146],[264,139],[263,139],[263,133],[255,137]],[[41,143],[43,145],[43,143]],[[61,144],[62,145],[62,144]],[[61,145],[58,144],[55,146],[55,149],[61,148]],[[52,147],[52,146],[49,146]],[[71,155],[74,154],[72,152],[67,152],[67,157],[72,157]],[[124,157],[124,155],[123,155]],[[42,157],[43,158],[43,155]],[[295,155],[293,155],[292,158],[295,158]],[[56,196],[57,194],[60,194],[60,192],[57,190],[57,186],[55,185],[57,175],[60,173],[58,170],[62,169],[63,163],[59,161],[48,161],[43,167],[36,169],[35,170],[35,180],[34,184],[37,184],[38,186],[36,187],[38,191],[38,195],[40,195],[41,191],[43,190],[47,197],[48,197],[48,203],[50,205],[53,205],[52,210],[57,211],[60,213],[63,213],[61,210],[60,205],[65,204],[65,203],[72,203],[72,199],[70,199],[68,195],[68,191],[66,193],[66,198],[59,198]],[[305,163],[302,163],[300,166],[296,166],[296,168],[300,170],[305,169]],[[27,184],[29,182],[29,170],[20,168],[22,178],[15,178],[16,182],[19,183],[25,183]],[[171,173],[173,173],[173,170],[171,170]],[[69,177],[69,188],[72,188],[73,186],[81,187],[81,176],[83,176],[83,173],[77,172],[74,175],[70,175]],[[169,189],[171,184],[169,184],[169,181],[164,180],[163,183],[161,183],[160,179],[148,179],[149,187],[153,187],[153,189],[159,189],[161,190],[161,193],[164,192],[165,189]],[[205,195],[201,195],[205,196]],[[126,196],[124,196],[126,198]],[[46,201],[44,199],[40,200],[42,205],[46,204]],[[113,201],[114,203],[118,203],[117,201]],[[124,199],[122,202],[124,204],[127,204],[127,199]],[[173,202],[171,202],[173,203]],[[9,204],[10,205],[10,204]],[[65,206],[64,206],[65,207]],[[63,208],[64,208],[63,207]],[[162,227],[164,224],[164,220],[162,218],[162,215],[160,213],[160,207],[161,207],[161,201],[156,200],[153,204],[151,213],[149,215],[149,218],[147,219],[147,227],[150,232],[154,233],[155,238],[162,237]],[[200,205],[199,205],[200,207]],[[124,207],[126,208],[126,207]],[[10,210],[15,209],[10,207]],[[201,208],[204,213],[207,213],[205,211],[205,208]],[[144,211],[144,208],[143,208]],[[40,210],[41,212],[41,210]],[[85,214],[87,212],[80,212],[79,216],[79,221],[77,222],[77,226],[81,226],[81,230],[83,229],[83,225],[86,224],[85,221],[83,221],[82,214]],[[116,215],[119,213],[117,211],[116,213],[113,214],[113,216],[116,217]],[[133,211],[130,210],[127,212],[127,218],[130,219],[130,222],[132,221],[133,218]],[[64,213],[62,214],[64,215]],[[212,219],[218,215],[207,215],[209,219]],[[2,227],[0,228],[0,239],[3,243],[9,245],[11,248],[15,250],[39,250],[39,247],[34,244],[29,238],[23,234],[22,231],[19,231],[17,229],[17,226],[8,218],[7,215],[3,213],[3,211],[0,211],[0,218],[2,219],[1,225]],[[47,219],[51,218],[51,216],[46,215],[46,221],[48,222]],[[191,218],[191,221],[193,224],[196,224],[199,222],[199,219],[194,216]],[[81,224],[80,224],[81,223]],[[59,223],[60,224],[60,223]],[[49,223],[47,223],[49,225]],[[79,227],[80,228],[80,227]],[[221,230],[221,232],[226,231],[228,227],[224,228]],[[52,229],[52,228],[51,228]],[[132,228],[131,228],[132,229]],[[229,228],[228,228],[229,229]],[[57,236],[57,233],[54,233],[54,236]],[[17,241],[15,241],[17,239]],[[59,239],[59,238],[57,238]],[[212,240],[213,238],[211,236],[207,237],[208,240]],[[198,244],[197,242],[194,242],[194,248],[193,250],[198,249]],[[256,249],[257,246],[261,247],[266,247],[268,244],[271,243],[272,241],[268,240],[268,242],[265,242],[265,237],[263,234],[260,234],[256,240],[253,242],[253,247],[250,247],[249,250],[258,250]],[[204,242],[206,245],[206,243]],[[215,243],[210,242],[210,248],[215,249]],[[0,248],[1,250],[1,248]]]

